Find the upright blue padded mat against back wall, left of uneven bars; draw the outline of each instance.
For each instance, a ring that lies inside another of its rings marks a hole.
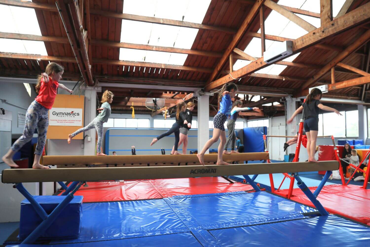
[[[263,135],[267,135],[267,127],[243,128],[244,153],[264,152]]]

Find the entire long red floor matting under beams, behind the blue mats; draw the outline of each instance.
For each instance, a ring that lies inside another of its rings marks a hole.
[[[84,203],[97,201],[147,200],[178,195],[213,194],[253,190],[252,186],[230,183],[222,177],[173,178],[157,180],[126,180],[124,182],[89,182],[76,196]]]

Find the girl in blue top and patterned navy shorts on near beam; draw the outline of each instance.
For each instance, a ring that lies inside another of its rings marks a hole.
[[[226,143],[226,134],[225,134],[225,127],[223,124],[225,124],[226,119],[228,119],[231,109],[232,109],[232,98],[235,97],[236,92],[238,91],[238,87],[234,83],[226,83],[223,85],[221,89],[221,93],[219,96],[220,99],[220,110],[216,114],[216,116],[213,118],[213,136],[211,139],[209,139],[206,144],[204,145],[201,153],[198,153],[196,156],[198,156],[199,162],[204,165],[204,154],[208,150],[209,147],[212,146],[213,143],[218,141],[220,139],[220,144],[218,145],[218,157],[217,157],[217,163],[218,165],[228,165],[229,163],[226,163],[222,160],[222,153],[223,153],[223,147]]]

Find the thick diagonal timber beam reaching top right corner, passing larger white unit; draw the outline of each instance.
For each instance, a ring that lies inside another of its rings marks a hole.
[[[350,28],[359,26],[366,21],[370,20],[370,3],[366,3],[357,9],[350,11],[342,17],[339,17],[330,23],[313,30],[310,33],[293,41],[293,54],[296,54],[308,47],[311,47],[319,42],[324,41],[326,38],[333,37],[336,34],[342,33]],[[280,59],[283,60],[283,59]],[[233,71],[231,75],[223,76],[215,81],[208,82],[205,91],[211,91],[222,86],[225,83],[231,82],[233,78],[240,78],[257,70],[263,69],[270,64],[263,61],[263,57],[259,58],[247,66],[239,70]]]

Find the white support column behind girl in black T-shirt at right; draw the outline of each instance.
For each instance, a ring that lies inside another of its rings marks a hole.
[[[298,124],[302,117],[302,114],[298,114],[294,119],[293,122],[287,124],[286,121],[293,115],[296,109],[296,102],[299,101],[297,98],[286,97],[286,112],[285,112],[285,134],[286,136],[295,136],[298,131]],[[288,138],[289,140],[290,138]],[[287,148],[288,154],[295,153],[296,146],[292,145]]]

